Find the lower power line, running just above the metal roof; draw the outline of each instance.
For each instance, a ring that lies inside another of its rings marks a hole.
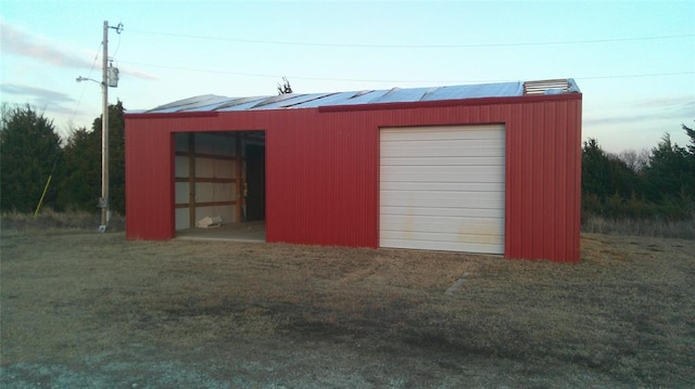
[[[137,62],[124,62],[121,63],[129,64],[129,65],[138,65],[138,66],[149,66],[149,67],[157,67],[164,69],[173,69],[173,70],[185,70],[185,72],[197,72],[197,73],[208,73],[208,74],[222,74],[222,75],[230,75],[230,76],[244,76],[244,77],[260,77],[260,78],[280,78],[282,75],[270,75],[270,74],[257,74],[257,73],[243,73],[243,72],[229,72],[229,70],[214,70],[214,69],[200,69],[200,68],[191,68],[191,67],[180,67],[180,66],[167,66],[167,65],[155,65],[155,64],[146,64],[146,63],[137,63]],[[650,73],[650,74],[636,74],[636,75],[612,75],[612,76],[585,76],[585,77],[572,77],[578,80],[591,80],[591,79],[609,79],[609,78],[643,78],[643,77],[662,77],[662,76],[684,76],[684,75],[693,75],[695,70],[691,72],[671,72],[671,73]],[[397,83],[473,83],[473,82],[507,82],[514,81],[509,79],[476,79],[476,80],[414,80],[414,79],[361,79],[361,78],[331,78],[331,77],[306,77],[306,76],[287,76],[290,79],[300,79],[300,80],[314,80],[314,81],[344,81],[344,82],[397,82]]]

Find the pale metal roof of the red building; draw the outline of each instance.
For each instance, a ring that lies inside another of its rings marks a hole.
[[[204,94],[161,105],[156,108],[144,111],[143,113],[165,114],[314,108],[331,105],[413,103],[420,101],[513,98],[523,94],[579,92],[579,88],[577,88],[574,80],[571,78],[551,81],[553,82],[517,81],[434,88],[393,88],[389,90],[363,90],[338,93],[288,93],[254,98],[226,98],[215,94]],[[533,88],[529,88],[530,85],[532,85]],[[530,92],[530,90],[532,90],[532,92]]]

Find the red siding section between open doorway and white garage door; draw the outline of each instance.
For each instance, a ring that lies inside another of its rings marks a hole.
[[[356,115],[274,113],[266,130],[266,238],[375,246],[375,147]],[[309,125],[311,124],[311,125]]]

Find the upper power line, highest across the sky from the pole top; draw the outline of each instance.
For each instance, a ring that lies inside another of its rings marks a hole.
[[[505,47],[529,47],[529,46],[556,46],[556,44],[583,44],[583,43],[611,43],[611,42],[630,42],[662,39],[682,39],[694,38],[695,34],[685,35],[666,35],[655,37],[633,37],[633,38],[605,38],[605,39],[583,39],[583,40],[561,40],[561,41],[544,41],[544,42],[516,42],[516,43],[460,43],[460,44],[370,44],[370,43],[316,43],[316,42],[299,42],[282,40],[261,40],[261,39],[241,39],[228,37],[212,37],[200,35],[187,35],[175,33],[155,33],[146,30],[129,30],[130,33],[155,35],[173,38],[188,38],[202,40],[220,40],[239,43],[254,44],[280,44],[280,46],[304,46],[318,48],[355,48],[355,49],[462,49],[462,48],[505,48]]]

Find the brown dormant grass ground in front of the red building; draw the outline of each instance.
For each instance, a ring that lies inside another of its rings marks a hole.
[[[695,387],[695,241],[586,234],[579,264],[60,230],[0,244],[3,388]]]

